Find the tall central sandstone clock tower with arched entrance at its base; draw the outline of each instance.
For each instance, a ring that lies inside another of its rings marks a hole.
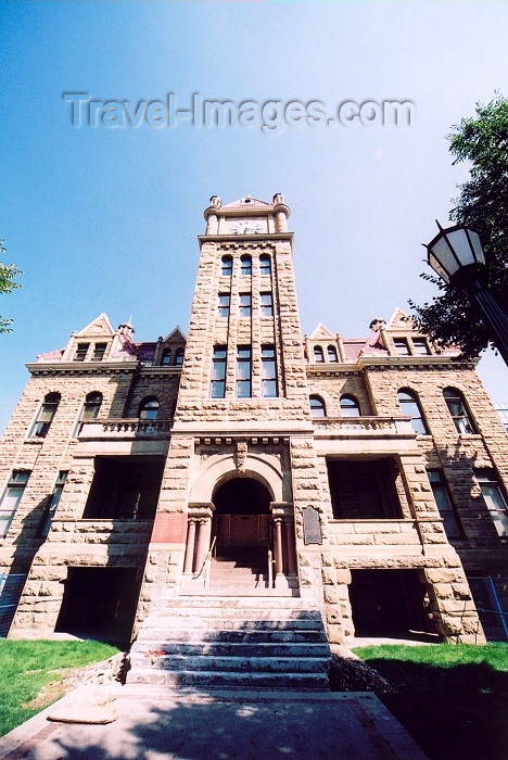
[[[289,215],[281,194],[227,205],[214,195],[204,212],[152,547],[172,545],[166,578],[175,593],[218,583],[225,558],[261,570],[270,593],[292,590],[322,604],[320,555],[312,555],[327,531]]]

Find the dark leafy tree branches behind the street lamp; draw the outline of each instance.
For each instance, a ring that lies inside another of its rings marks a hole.
[[[477,103],[475,117],[462,118],[448,135],[454,164],[470,161],[470,179],[459,185],[449,218],[477,230],[488,265],[488,288],[501,308],[508,303],[508,100],[500,93],[487,105]],[[422,306],[409,301],[423,332],[441,345],[458,345],[466,357],[492,345],[488,330],[469,297],[440,278],[422,274],[440,295]]]

